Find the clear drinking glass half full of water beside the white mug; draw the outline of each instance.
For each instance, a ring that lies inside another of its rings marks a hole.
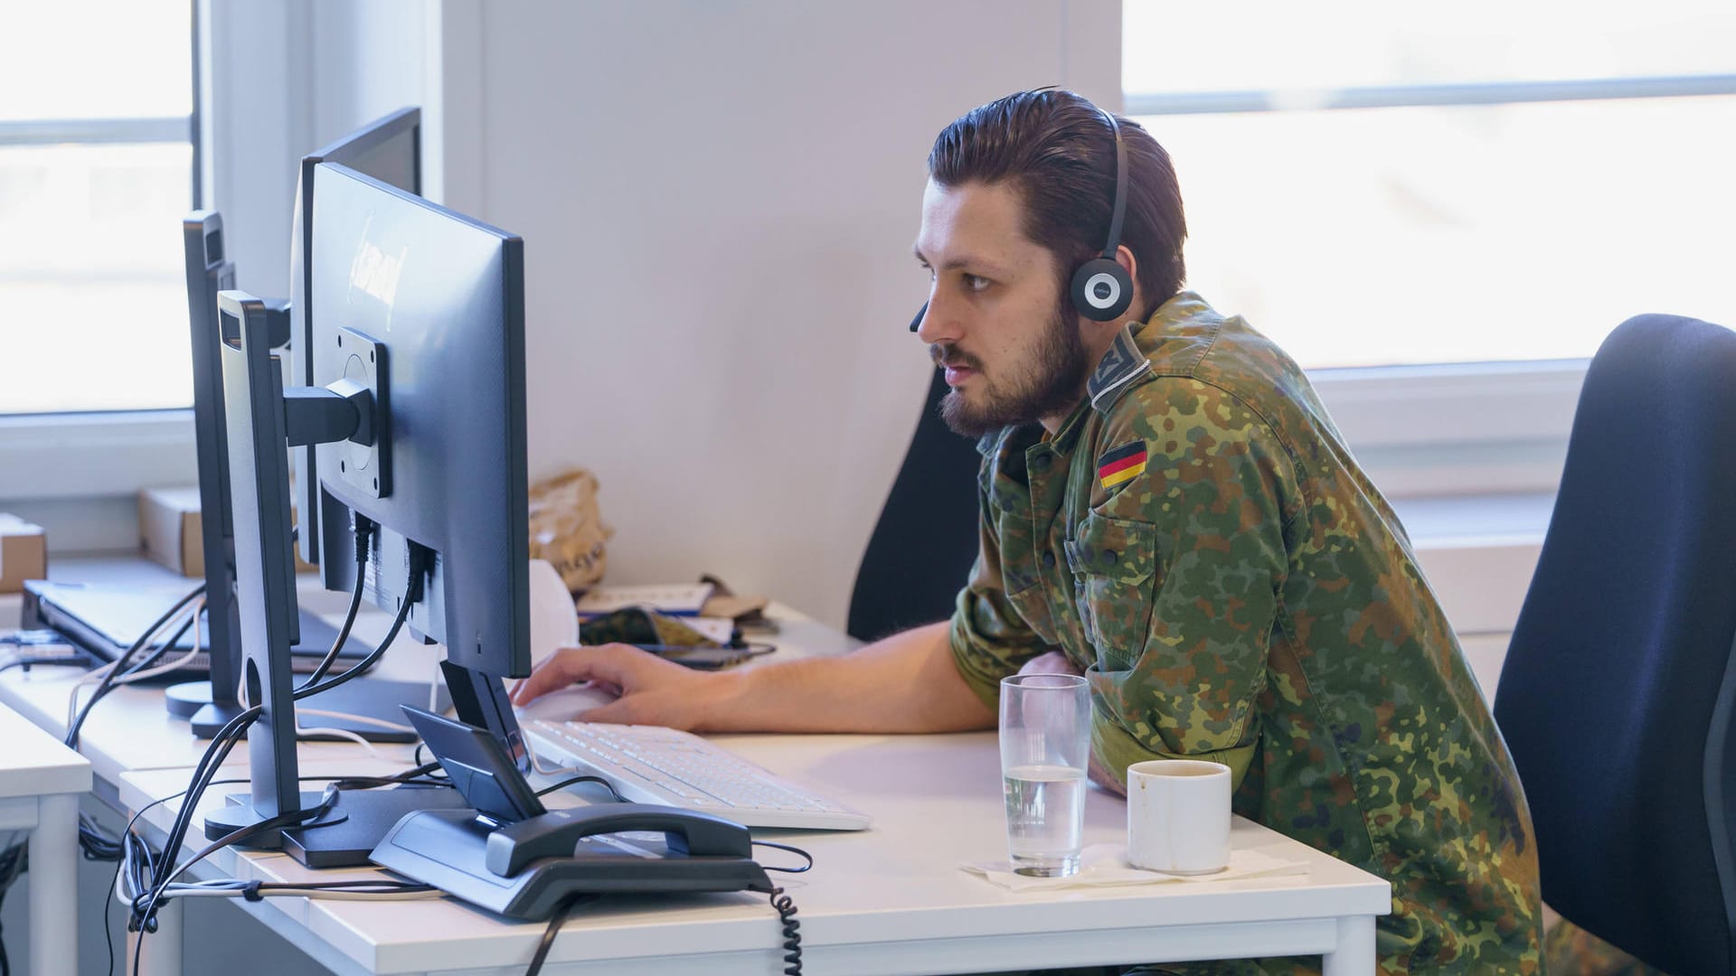
[[[1012,870],[1036,877],[1080,868],[1090,691],[1076,674],[1000,681],[1000,776]]]

